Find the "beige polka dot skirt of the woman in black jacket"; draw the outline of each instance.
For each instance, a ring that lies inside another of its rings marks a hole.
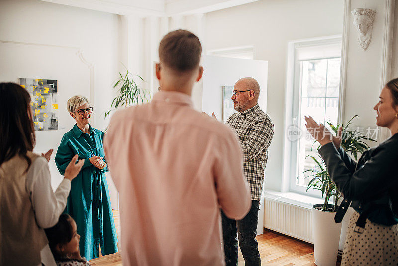
[[[362,234],[354,232],[359,213],[350,219],[341,266],[398,265],[398,224],[383,226],[366,220]]]

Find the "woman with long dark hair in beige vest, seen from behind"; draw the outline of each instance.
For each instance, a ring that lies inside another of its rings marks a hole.
[[[34,145],[29,93],[15,83],[0,83],[0,265],[51,261],[43,228],[57,223],[71,180],[84,163],[73,157],[54,193],[48,168],[52,150],[40,156],[32,152]]]

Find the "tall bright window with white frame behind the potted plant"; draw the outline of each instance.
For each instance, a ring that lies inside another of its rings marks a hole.
[[[293,63],[290,71],[293,73],[288,73],[288,77],[293,78],[292,112],[287,114],[291,116],[291,120],[286,121],[292,121],[293,125],[288,126],[300,129],[298,131],[301,135],[296,138],[288,137],[291,155],[290,162],[285,165],[290,166],[290,191],[305,193],[310,180],[302,173],[315,166],[315,162],[308,155],[317,157],[318,145],[313,144],[313,139],[307,134],[304,115],[310,115],[326,126],[329,121],[334,125],[338,121],[341,38],[292,42],[290,47],[289,56]],[[317,190],[308,190],[308,194],[320,196]]]

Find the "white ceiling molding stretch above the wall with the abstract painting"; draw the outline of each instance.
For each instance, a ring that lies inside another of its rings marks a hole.
[[[164,16],[164,0],[39,0],[118,15]]]

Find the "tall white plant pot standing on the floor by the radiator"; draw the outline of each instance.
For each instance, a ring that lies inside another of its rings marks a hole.
[[[324,212],[314,208],[322,205],[315,204],[312,206],[315,264],[317,266],[335,266],[341,223],[336,224],[334,222],[336,212]]]

